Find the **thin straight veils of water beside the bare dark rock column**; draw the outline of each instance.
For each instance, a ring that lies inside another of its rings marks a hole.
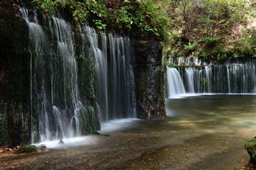
[[[114,37],[111,33],[98,35],[89,26],[86,26],[86,33],[96,61],[97,101],[101,121],[136,117],[129,38]]]

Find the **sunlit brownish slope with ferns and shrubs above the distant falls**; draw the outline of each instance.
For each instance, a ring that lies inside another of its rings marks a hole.
[[[232,0],[169,1],[172,38],[167,56],[205,60],[255,57],[255,3]],[[192,43],[193,42],[193,43]]]

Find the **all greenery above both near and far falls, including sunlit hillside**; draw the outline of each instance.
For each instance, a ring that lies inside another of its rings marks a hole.
[[[233,0],[33,0],[44,13],[69,9],[77,22],[97,30],[160,36],[165,56],[205,60],[255,57],[253,1]]]

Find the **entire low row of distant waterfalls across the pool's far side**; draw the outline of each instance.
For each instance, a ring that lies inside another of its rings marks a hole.
[[[180,60],[180,59],[179,59]],[[167,83],[169,84],[169,97],[176,94],[170,94],[175,90],[173,83],[178,75],[170,76],[167,68]],[[256,93],[255,65],[253,62],[227,65],[204,66],[200,68],[179,69],[179,76],[182,81],[176,80],[179,87],[185,87],[185,93],[213,93],[213,94],[254,94]],[[172,88],[172,90],[170,90]],[[179,94],[185,94],[184,91]]]

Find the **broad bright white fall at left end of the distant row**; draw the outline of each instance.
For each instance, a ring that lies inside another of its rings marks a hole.
[[[168,97],[173,98],[180,94],[185,94],[185,88],[180,74],[176,68],[166,66]]]

